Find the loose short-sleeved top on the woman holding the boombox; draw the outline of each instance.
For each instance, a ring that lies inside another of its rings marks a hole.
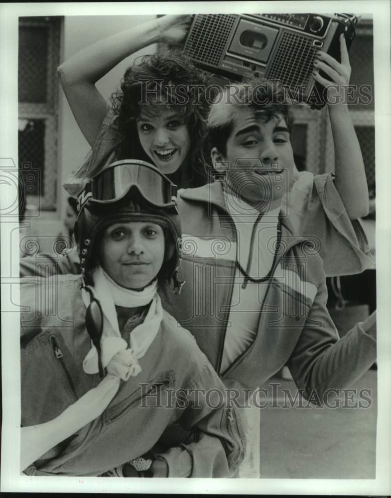
[[[118,147],[123,140],[118,116],[109,110],[83,165],[73,171],[63,185],[68,193],[77,197],[88,178],[97,175],[105,165],[121,159]],[[133,141],[135,156],[131,157],[148,161],[139,146],[138,136]],[[309,171],[301,171],[294,174],[294,183],[290,188],[286,206],[294,233],[320,240],[320,255],[327,276],[351,275],[372,269],[375,267],[375,260],[361,222],[349,219],[333,178],[332,173],[314,175]],[[179,213],[182,227],[185,228],[187,218],[183,218],[180,211]],[[23,263],[28,264],[28,261]]]

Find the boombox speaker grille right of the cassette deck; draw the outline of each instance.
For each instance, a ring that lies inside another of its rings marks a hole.
[[[319,49],[312,44],[311,38],[285,31],[265,77],[279,80],[291,90],[306,87],[317,50]]]

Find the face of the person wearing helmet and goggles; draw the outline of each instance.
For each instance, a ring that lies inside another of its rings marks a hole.
[[[164,232],[156,223],[115,223],[103,234],[100,264],[122,287],[145,287],[157,276],[163,260]]]

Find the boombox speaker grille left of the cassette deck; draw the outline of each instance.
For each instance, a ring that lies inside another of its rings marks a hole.
[[[235,23],[236,15],[197,15],[184,53],[195,61],[217,66]]]

